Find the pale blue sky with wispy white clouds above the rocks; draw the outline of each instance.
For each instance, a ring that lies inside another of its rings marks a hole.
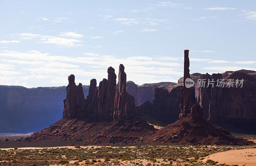
[[[190,74],[256,70],[256,1],[0,1],[0,85],[177,82]]]

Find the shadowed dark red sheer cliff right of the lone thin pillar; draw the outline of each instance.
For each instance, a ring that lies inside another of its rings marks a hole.
[[[256,119],[256,78],[251,74],[234,71],[224,74],[204,74],[200,79],[214,81],[214,86],[196,87],[196,102],[204,109],[204,118],[210,120]],[[216,87],[216,80],[225,77],[224,87]],[[234,87],[227,87],[232,79]],[[242,80],[243,87],[236,87],[236,79]]]

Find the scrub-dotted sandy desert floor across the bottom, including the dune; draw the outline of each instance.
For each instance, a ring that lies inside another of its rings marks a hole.
[[[255,146],[63,146],[1,148],[1,166],[256,166]]]

